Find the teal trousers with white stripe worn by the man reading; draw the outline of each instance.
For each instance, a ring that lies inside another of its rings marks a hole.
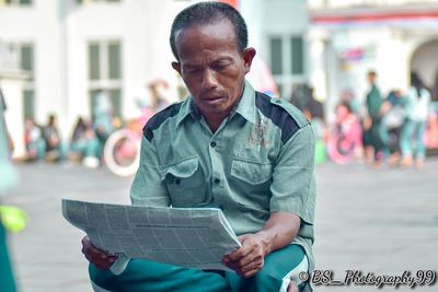
[[[308,271],[303,249],[289,245],[265,258],[263,269],[250,279],[233,271],[204,271],[166,264],[131,259],[124,272],[115,276],[90,265],[91,281],[108,291],[129,292],[270,292],[287,291],[290,279],[302,288],[299,272]]]

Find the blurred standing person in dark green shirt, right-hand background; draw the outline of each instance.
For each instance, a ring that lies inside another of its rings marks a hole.
[[[370,90],[366,96],[367,104],[367,119],[365,121],[366,136],[369,139],[369,145],[367,145],[368,155],[373,156],[376,166],[380,166],[383,161],[383,141],[381,138],[381,113],[382,96],[377,86],[377,72],[369,71],[367,74]],[[371,153],[372,152],[372,153]]]

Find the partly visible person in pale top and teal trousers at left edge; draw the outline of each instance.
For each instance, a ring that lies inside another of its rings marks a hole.
[[[0,198],[2,195],[5,195],[4,192],[14,185],[16,180],[16,174],[9,161],[11,143],[9,142],[10,137],[4,119],[5,109],[7,105],[0,89]],[[15,292],[15,280],[8,252],[7,230],[3,225],[3,215],[1,212],[0,210],[0,291]]]

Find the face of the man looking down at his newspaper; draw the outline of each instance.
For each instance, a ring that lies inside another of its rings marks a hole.
[[[175,39],[180,62],[173,62],[173,68],[204,117],[223,119],[242,95],[255,50],[239,50],[228,20],[185,28]]]

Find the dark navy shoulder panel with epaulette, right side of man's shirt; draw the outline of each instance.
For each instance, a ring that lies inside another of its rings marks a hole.
[[[304,117],[291,103],[273,98],[266,94],[255,93],[255,106],[263,116],[270,119],[281,130],[281,142],[286,143],[299,129],[309,125]]]

